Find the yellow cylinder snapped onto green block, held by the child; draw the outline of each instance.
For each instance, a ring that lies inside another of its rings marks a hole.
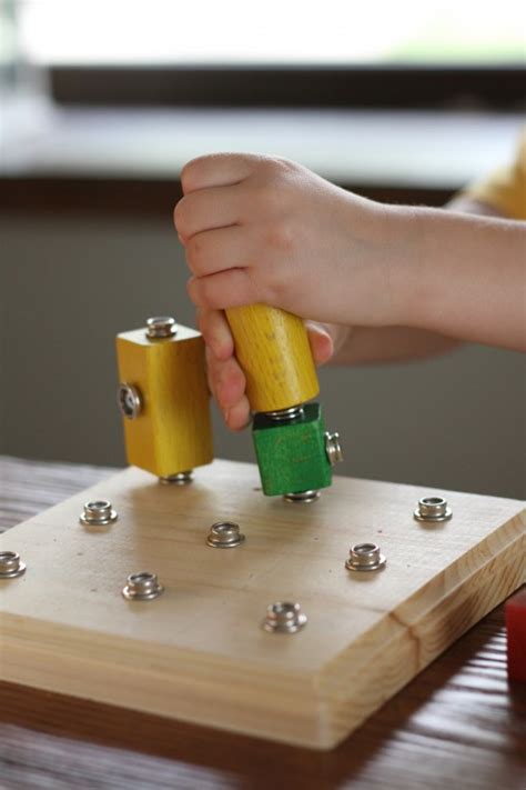
[[[263,493],[310,502],[342,460],[337,433],[325,431],[307,333],[297,316],[264,304],[226,311],[235,354],[255,412],[252,438]]]

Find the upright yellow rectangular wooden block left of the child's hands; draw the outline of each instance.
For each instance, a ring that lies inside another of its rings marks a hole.
[[[128,461],[158,477],[213,459],[204,342],[179,326],[174,338],[149,340],[144,329],[117,338],[119,380],[136,387],[143,409],[123,419]]]

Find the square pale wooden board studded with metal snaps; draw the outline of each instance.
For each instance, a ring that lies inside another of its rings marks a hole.
[[[522,503],[445,493],[453,519],[413,519],[429,489],[336,478],[311,506],[261,496],[252,464],[215,461],[186,488],[125,470],[1,538],[27,573],[1,584],[6,680],[186,721],[327,749],[525,580]],[[107,531],[78,521],[88,499],[119,511]],[[205,544],[234,519],[236,549]],[[377,541],[385,570],[344,568]],[[130,572],[165,592],[128,602]],[[260,627],[297,600],[295,634]]]

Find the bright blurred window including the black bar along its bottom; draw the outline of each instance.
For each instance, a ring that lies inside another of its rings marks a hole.
[[[522,0],[498,8],[481,0],[0,0],[0,8],[8,9],[2,38],[14,40],[19,59],[49,70],[63,103],[524,102]]]

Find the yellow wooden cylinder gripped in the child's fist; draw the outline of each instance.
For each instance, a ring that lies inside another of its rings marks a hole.
[[[226,318],[253,411],[289,409],[317,396],[320,384],[301,318],[266,304],[232,308]]]

